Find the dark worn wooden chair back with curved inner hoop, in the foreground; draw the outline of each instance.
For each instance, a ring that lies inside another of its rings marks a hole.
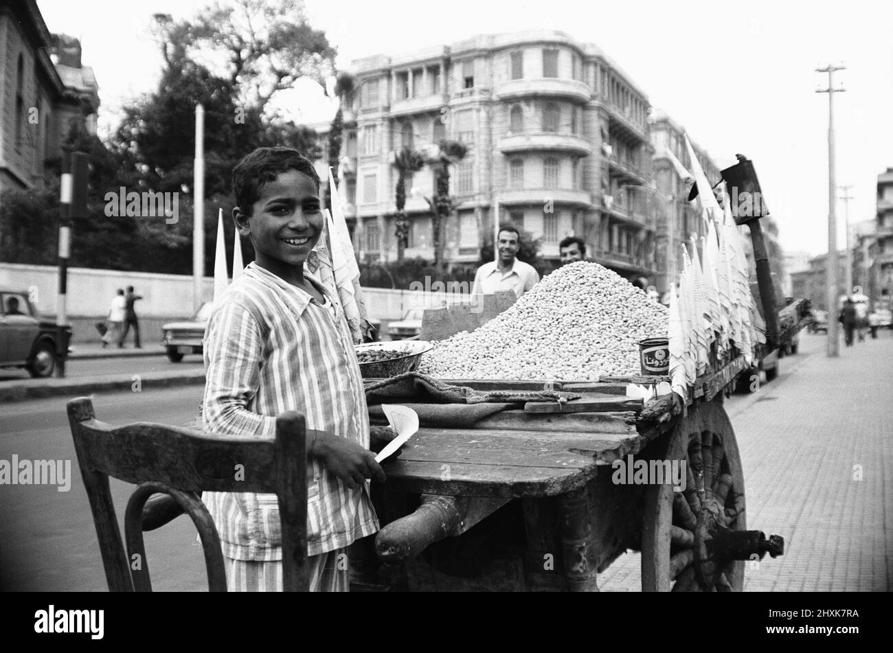
[[[283,589],[307,591],[303,415],[282,413],[276,418],[274,438],[224,437],[149,423],[114,428],[96,419],[93,402],[86,397],[68,402],[68,418],[109,591],[152,591],[143,543],[143,508],[155,492],[170,495],[196,525],[210,591],[226,591],[226,574],[220,536],[200,493],[276,494],[282,525]],[[124,517],[126,552],[109,476],[137,485]]]

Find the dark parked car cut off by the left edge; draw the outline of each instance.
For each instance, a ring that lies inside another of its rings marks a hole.
[[[71,327],[60,331],[54,321],[41,319],[26,291],[0,288],[0,367],[26,368],[34,377],[53,376],[57,345],[67,358],[70,341]]]

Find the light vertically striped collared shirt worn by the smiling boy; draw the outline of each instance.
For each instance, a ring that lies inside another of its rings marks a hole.
[[[363,380],[344,313],[313,277],[320,304],[255,262],[214,307],[204,335],[204,430],[273,435],[285,410],[308,429],[369,448]],[[343,549],[379,529],[368,483],[346,487],[318,459],[307,464],[307,553]],[[204,492],[223,554],[239,560],[282,557],[275,494]]]

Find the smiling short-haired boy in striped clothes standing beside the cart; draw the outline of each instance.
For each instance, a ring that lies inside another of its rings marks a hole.
[[[366,479],[384,481],[369,450],[363,380],[338,301],[305,274],[321,236],[320,180],[296,150],[259,148],[232,174],[233,219],[255,260],[223,293],[204,337],[203,426],[272,435],[297,410],[307,427],[307,548],[312,591],[349,588],[347,547],[379,529]],[[230,591],[281,591],[275,494],[206,492]]]

